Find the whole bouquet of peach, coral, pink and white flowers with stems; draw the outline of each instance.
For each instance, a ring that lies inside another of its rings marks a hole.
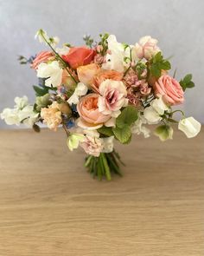
[[[172,123],[178,123],[188,138],[200,132],[198,121],[173,108],[184,101],[184,91],[194,87],[192,75],[180,82],[175,74],[169,75],[169,59],[151,36],[129,45],[105,33],[98,43],[84,36],[86,46],[64,43],[61,48],[56,47],[59,38],[49,37],[44,30],[36,37],[49,49],[29,59],[19,57],[39,78],[33,86],[35,103],[30,105],[26,96],[16,97],[15,107],[3,109],[1,118],[36,132],[40,131],[37,123],[54,131],[64,128],[67,147],[85,150],[85,166],[93,177],[110,181],[112,173],[121,175],[122,162],[113,141],[130,143],[133,134],[147,138],[148,125],[157,125],[154,134],[161,141],[172,139]],[[177,112],[180,121],[175,120]]]

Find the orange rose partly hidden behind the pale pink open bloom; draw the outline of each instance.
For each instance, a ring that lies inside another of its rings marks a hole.
[[[92,78],[92,84],[91,87],[92,89],[99,93],[99,85],[104,82],[107,79],[113,80],[113,81],[121,81],[123,79],[123,73],[120,73],[115,70],[105,70],[101,69],[99,74],[95,75]]]

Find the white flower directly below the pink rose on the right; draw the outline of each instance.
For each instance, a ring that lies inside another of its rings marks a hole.
[[[150,107],[144,108],[143,116],[149,124],[156,124],[163,119],[161,115],[165,111],[169,111],[169,107],[163,102],[163,98],[159,98],[150,102]]]

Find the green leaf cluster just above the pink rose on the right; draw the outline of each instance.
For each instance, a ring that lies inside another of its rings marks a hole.
[[[171,69],[170,62],[163,59],[161,51],[156,53],[156,56],[154,56],[150,61],[150,74],[158,78],[161,76],[162,70],[169,69]]]

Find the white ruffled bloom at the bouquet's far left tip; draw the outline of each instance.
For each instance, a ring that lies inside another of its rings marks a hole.
[[[3,119],[8,125],[13,125],[13,124],[19,125],[21,120],[18,114],[19,114],[19,110],[17,108],[14,108],[14,109],[4,108],[0,116],[1,116],[1,119]]]

